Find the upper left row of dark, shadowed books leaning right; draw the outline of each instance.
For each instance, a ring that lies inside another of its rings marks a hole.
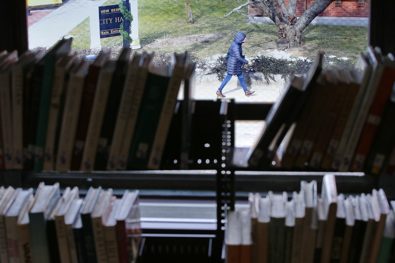
[[[117,59],[0,52],[0,169],[158,169],[177,96],[194,73],[188,53],[167,66],[124,47]]]

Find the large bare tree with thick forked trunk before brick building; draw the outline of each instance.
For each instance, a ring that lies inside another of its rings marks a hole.
[[[299,46],[303,30],[333,1],[334,0],[316,0],[300,17],[297,18],[296,4],[298,0],[289,0],[288,6],[285,5],[284,0],[249,0],[246,3],[240,4],[224,17],[226,18],[233,13],[245,15],[241,11],[242,8],[249,4],[254,4],[278,27],[277,43],[288,43],[289,46]]]

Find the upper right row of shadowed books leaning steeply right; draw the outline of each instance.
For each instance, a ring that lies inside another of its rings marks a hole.
[[[248,155],[253,168],[395,171],[395,59],[368,46],[353,68],[291,75]]]

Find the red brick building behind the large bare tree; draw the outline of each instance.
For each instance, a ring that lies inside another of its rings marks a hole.
[[[316,0],[298,0],[296,15],[300,16]],[[285,0],[288,5],[288,0]],[[252,16],[250,24],[273,24],[255,5],[248,6],[248,14]],[[369,16],[369,0],[335,0],[311,25],[367,26]]]

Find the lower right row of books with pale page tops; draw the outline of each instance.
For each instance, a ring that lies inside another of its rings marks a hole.
[[[227,263],[393,263],[395,201],[382,189],[338,193],[335,176],[302,181],[299,192],[249,194],[228,211]]]

